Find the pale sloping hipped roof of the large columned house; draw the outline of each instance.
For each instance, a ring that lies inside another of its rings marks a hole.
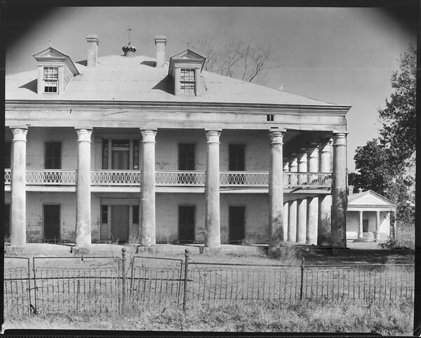
[[[201,73],[200,96],[175,96],[172,79],[165,67],[155,67],[155,59],[139,55],[131,58],[110,55],[98,58],[98,65],[86,67],[76,62],[79,75],[70,81],[62,95],[36,93],[37,69],[6,76],[6,100],[91,100],[155,102],[221,102],[241,104],[297,104],[335,107],[255,83],[210,72]]]

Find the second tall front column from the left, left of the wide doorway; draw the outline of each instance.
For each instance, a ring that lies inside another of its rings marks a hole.
[[[76,251],[91,250],[91,128],[77,133]]]

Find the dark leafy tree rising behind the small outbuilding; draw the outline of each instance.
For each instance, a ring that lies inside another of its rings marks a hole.
[[[415,205],[415,96],[416,50],[411,45],[401,55],[400,69],[392,74],[392,93],[379,109],[380,140],[356,149],[355,173],[349,184],[372,189],[398,205],[401,222],[412,222]]]

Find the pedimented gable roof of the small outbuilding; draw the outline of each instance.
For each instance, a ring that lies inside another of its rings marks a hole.
[[[374,209],[396,210],[396,204],[373,190],[348,196],[348,211]]]

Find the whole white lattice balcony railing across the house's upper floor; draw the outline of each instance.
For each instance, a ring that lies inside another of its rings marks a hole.
[[[138,187],[140,170],[91,170],[93,187]],[[156,187],[204,187],[204,171],[159,171],[155,174]],[[69,187],[76,184],[76,170],[38,169],[27,170],[27,186]],[[332,184],[331,173],[283,173],[286,189],[328,189]],[[221,171],[220,187],[265,188],[269,172]],[[6,187],[11,184],[11,170],[4,173]]]

